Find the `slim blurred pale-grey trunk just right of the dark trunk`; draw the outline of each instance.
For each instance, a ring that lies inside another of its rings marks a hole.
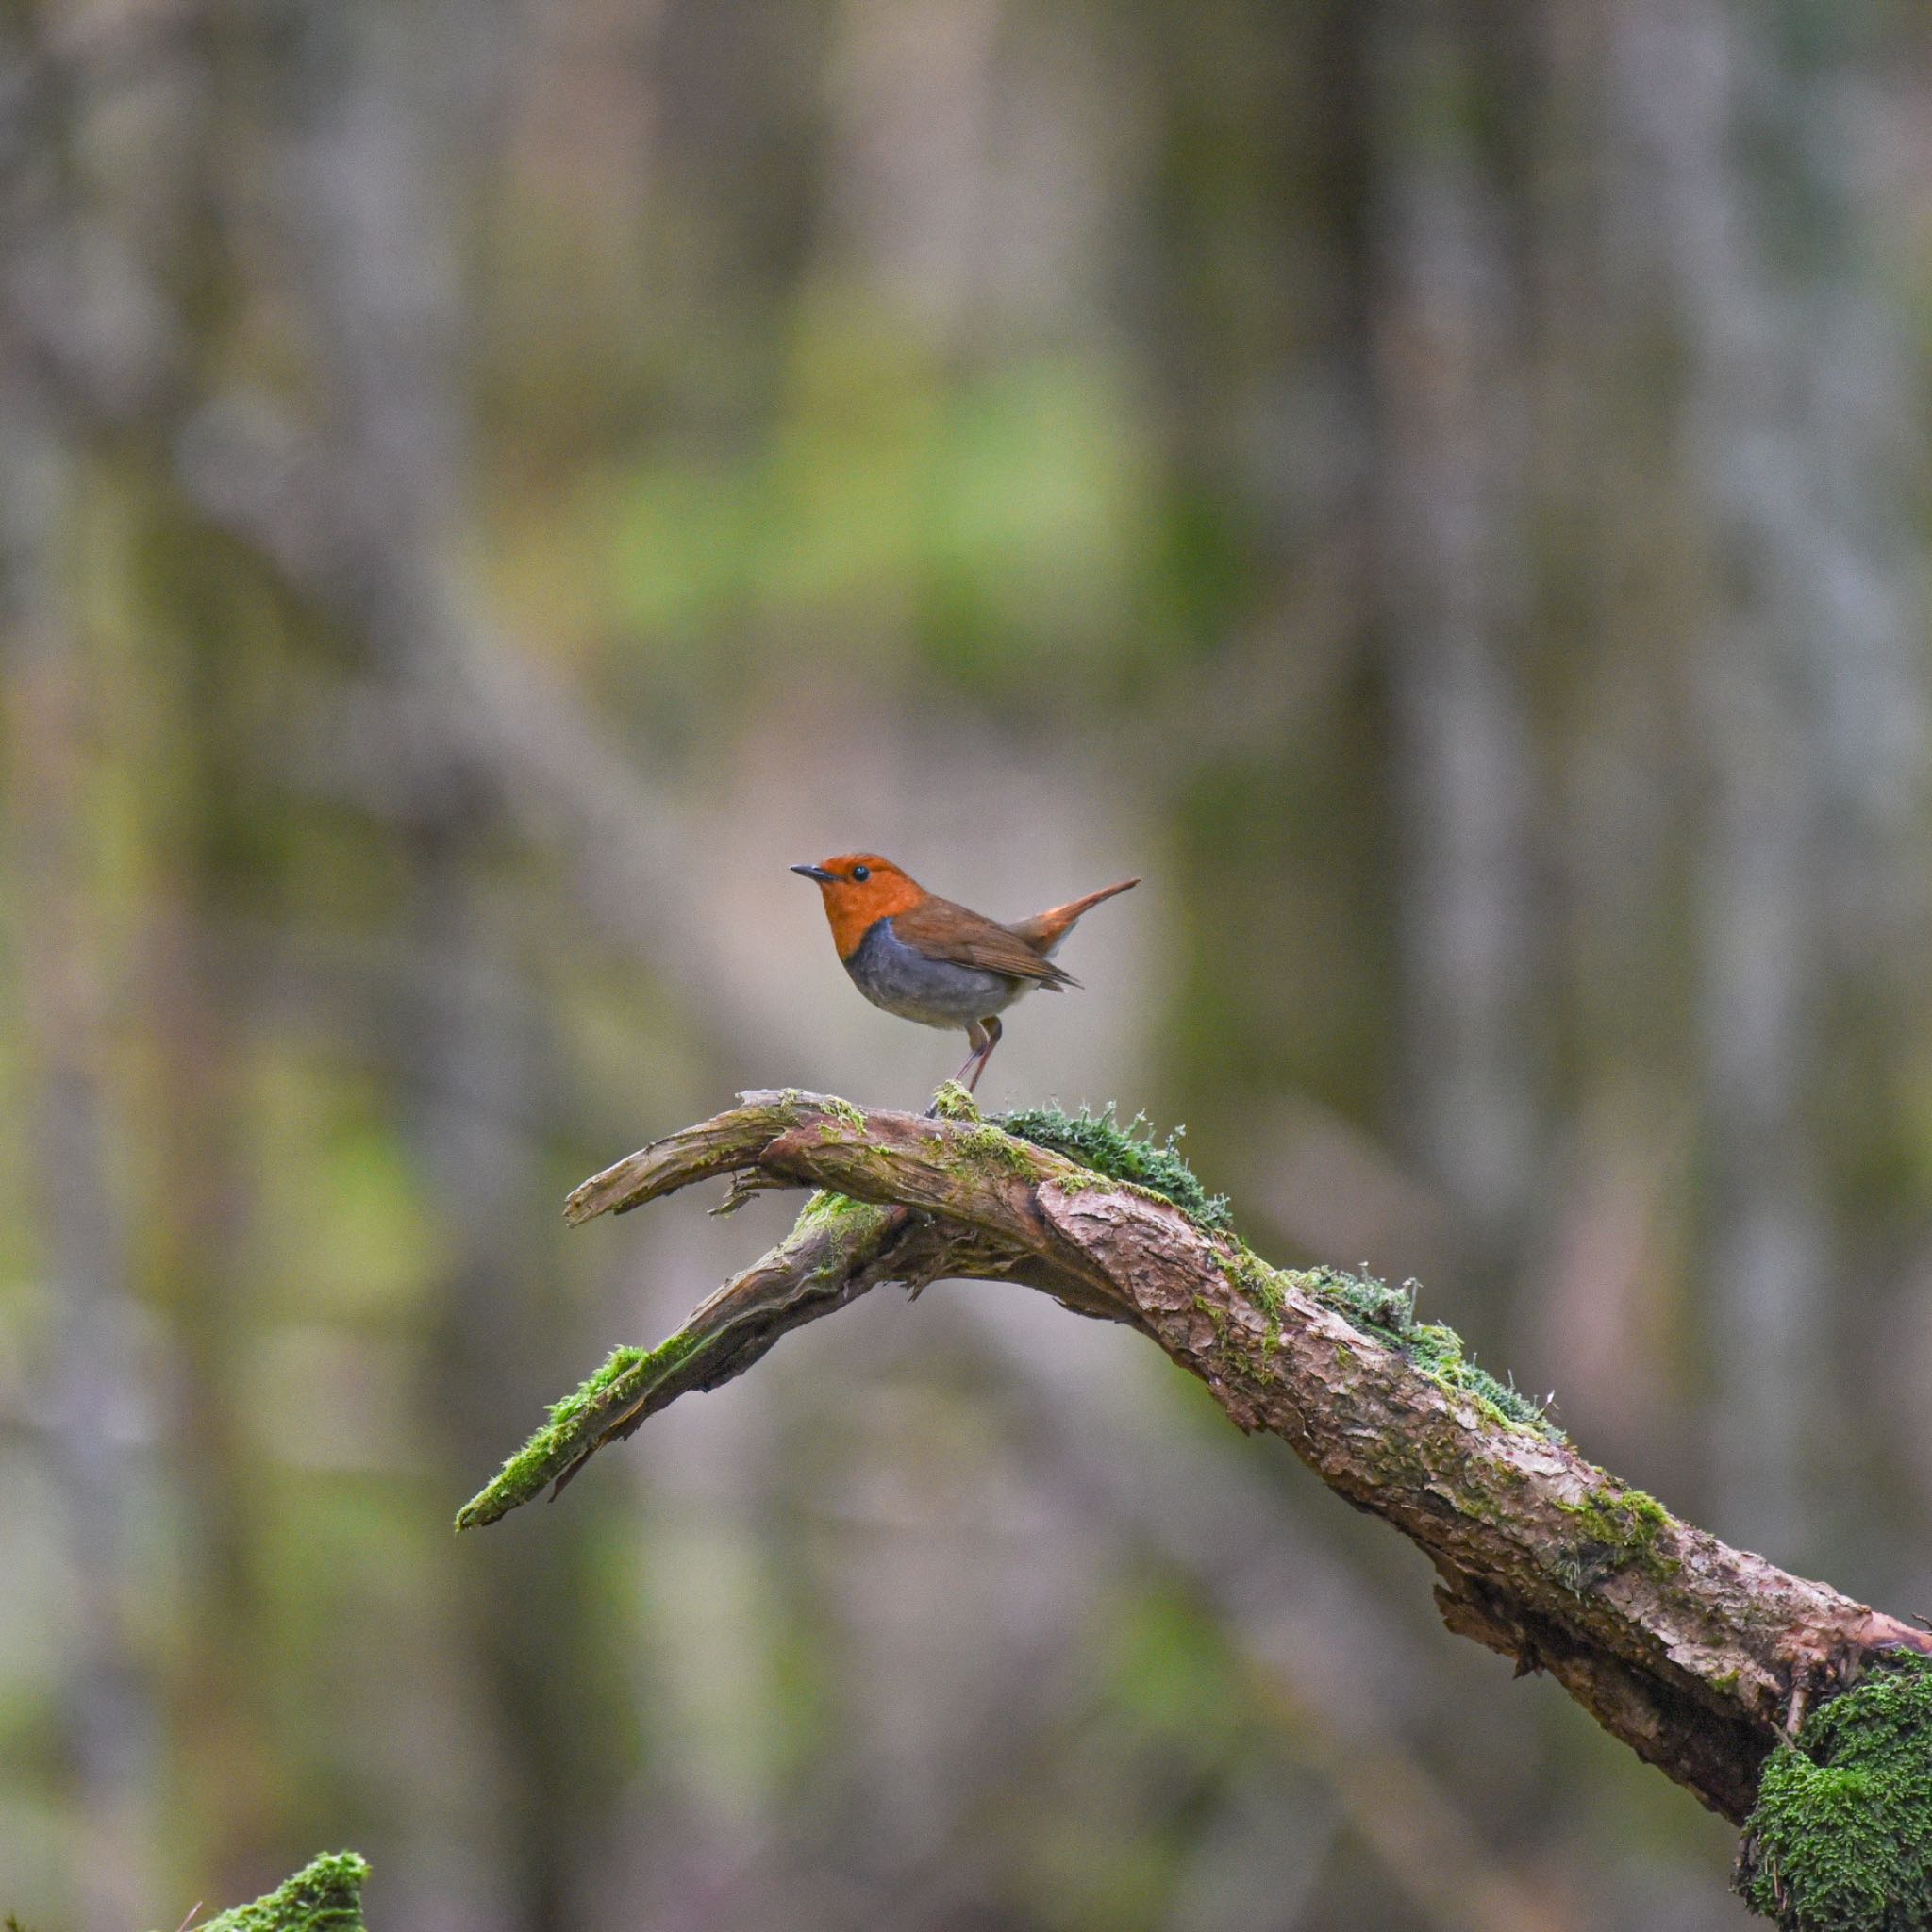
[[[1536,1192],[1520,315],[1478,116],[1507,112],[1515,35],[1395,0],[1372,35],[1376,589],[1401,802],[1405,1097],[1428,1173],[1490,1262]]]

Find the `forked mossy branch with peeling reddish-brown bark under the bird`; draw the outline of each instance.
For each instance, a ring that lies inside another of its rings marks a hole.
[[[1926,1633],[1729,1548],[1586,1461],[1466,1362],[1451,1331],[1418,1325],[1403,1296],[1327,1269],[1267,1267],[1206,1196],[1190,1215],[1039,1140],[980,1121],[956,1090],[931,1119],[746,1094],[585,1180],[572,1221],[721,1175],[736,1177],[726,1206],[746,1188],[821,1192],[676,1335],[618,1350],[558,1403],[458,1524],[562,1486],[678,1395],[728,1381],[784,1331],[881,1281],[1001,1279],[1138,1329],[1238,1428],[1283,1437],[1331,1490],[1414,1542],[1453,1631],[1519,1673],[1548,1671],[1733,1822],[1806,1710],[1888,1654],[1932,1654]],[[1090,1138],[1065,1144],[1095,1157]]]

